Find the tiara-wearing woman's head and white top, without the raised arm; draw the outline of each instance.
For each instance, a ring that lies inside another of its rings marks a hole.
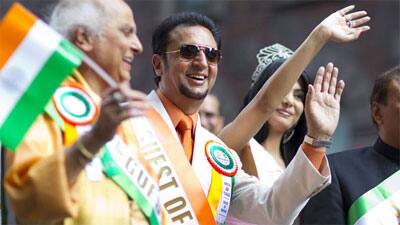
[[[257,54],[259,65],[252,76],[252,85],[244,99],[243,108],[250,103],[264,83],[292,54],[290,49],[280,44],[260,50]],[[262,183],[271,185],[293,159],[303,142],[307,131],[304,101],[308,84],[307,74],[303,73],[249,144],[241,150],[236,150],[243,169],[248,174],[258,177]],[[249,223],[229,217],[227,224]]]

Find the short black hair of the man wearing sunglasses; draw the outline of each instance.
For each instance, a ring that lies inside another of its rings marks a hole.
[[[168,17],[155,29],[151,42],[153,54],[164,55],[169,42],[169,34],[180,25],[200,25],[207,28],[210,30],[217,42],[218,49],[221,49],[221,34],[219,28],[212,19],[196,12],[181,12]],[[155,82],[158,86],[158,83],[160,82],[159,76],[155,77]]]

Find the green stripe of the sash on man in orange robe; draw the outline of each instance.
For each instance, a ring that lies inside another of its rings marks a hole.
[[[155,209],[151,206],[150,202],[147,198],[142,194],[139,188],[129,179],[129,177],[122,171],[122,169],[118,166],[118,164],[113,160],[111,154],[107,147],[105,147],[105,151],[101,157],[101,162],[103,164],[103,170],[106,175],[111,178],[115,183],[117,183],[122,190],[125,191],[132,198],[137,205],[140,207],[140,210],[145,214],[149,220],[151,225],[158,225],[159,220],[157,217],[157,213]]]

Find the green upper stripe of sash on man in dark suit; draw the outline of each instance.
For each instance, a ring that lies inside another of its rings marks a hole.
[[[356,201],[354,201],[349,209],[349,225],[355,224],[362,216],[367,214],[369,210],[375,208],[394,194],[393,191],[390,191],[393,190],[393,188],[388,187],[385,184],[391,182],[390,179],[396,179],[396,176],[400,176],[400,171],[397,171],[389,178],[382,181],[379,185],[369,190],[367,193],[363,194]]]

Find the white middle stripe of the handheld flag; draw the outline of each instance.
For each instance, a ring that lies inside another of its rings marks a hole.
[[[0,70],[0,128],[60,41],[58,33],[38,20]]]

